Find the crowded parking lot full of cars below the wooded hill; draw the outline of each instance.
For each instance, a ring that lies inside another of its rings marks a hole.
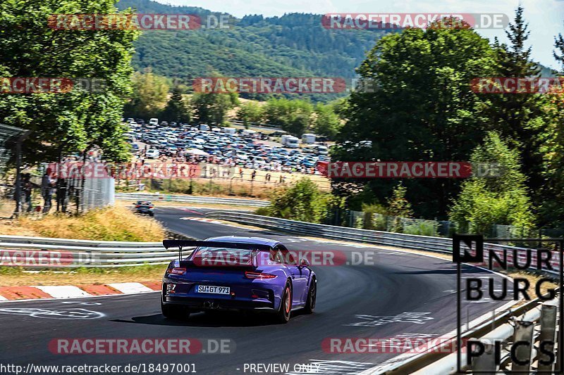
[[[245,170],[319,175],[317,162],[329,160],[325,144],[300,143],[299,148],[286,148],[277,141],[283,135],[281,132],[267,135],[224,127],[204,130],[206,127],[147,126],[139,125],[133,119],[128,119],[128,122],[130,132],[127,136],[133,153],[137,160],[143,162],[203,161]]]

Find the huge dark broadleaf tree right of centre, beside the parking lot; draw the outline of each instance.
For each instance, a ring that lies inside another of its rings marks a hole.
[[[357,69],[361,87],[377,89],[351,93],[343,106],[347,122],[331,158],[467,160],[489,127],[487,99],[474,94],[469,82],[491,77],[495,67],[489,41],[470,28],[413,28],[386,35]],[[333,179],[338,194],[361,195],[371,203],[384,203],[396,184]],[[460,182],[411,179],[404,186],[417,216],[446,217]]]

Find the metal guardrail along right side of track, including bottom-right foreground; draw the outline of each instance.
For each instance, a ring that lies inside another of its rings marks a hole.
[[[298,222],[293,220],[280,219],[277,217],[264,217],[260,215],[252,215],[241,212],[235,213],[228,211],[214,211],[208,212],[206,216],[239,222],[241,224],[256,225],[257,227],[264,227],[278,231],[286,231],[290,233],[306,235],[309,234],[311,236],[326,239],[350,240],[355,242],[374,243],[378,245],[395,246],[400,248],[413,248],[417,250],[428,250],[434,253],[444,253],[449,255],[452,254],[453,251],[452,239],[441,237],[397,234],[385,231],[370,231],[366,229],[356,229],[348,227],[333,227],[331,225]],[[525,258],[525,252],[527,251],[526,248],[518,248],[515,246],[505,246],[493,243],[484,243],[484,250],[486,250],[484,251],[485,254],[489,253],[489,251],[487,250],[493,250],[496,253],[507,252],[508,259],[510,259],[512,256],[516,256],[517,258]],[[553,259],[553,266],[556,266],[554,268],[558,269],[558,253],[555,253],[554,255],[556,255],[556,259]],[[533,258],[535,258],[535,255],[533,255]],[[557,271],[544,270],[544,272],[558,274]],[[520,307],[515,307],[513,310],[502,312],[493,319],[484,319],[484,322],[481,322],[478,326],[474,326],[472,329],[467,330],[463,336],[465,338],[482,337],[484,343],[487,343],[485,341],[491,338],[503,340],[505,343],[507,343],[511,340],[515,341],[517,339],[517,336],[519,336],[519,340],[522,341],[525,337],[526,340],[530,341],[531,345],[537,343],[539,341],[540,335],[532,335],[533,330],[531,327],[535,322],[537,322],[537,320],[541,319],[541,317],[544,317],[540,326],[541,334],[544,334],[545,336],[551,336],[554,334],[554,331],[556,329],[556,315],[553,314],[555,307],[553,307],[553,305],[551,304],[545,304],[542,305],[542,307],[537,307],[537,305],[539,305],[538,299],[526,303],[525,305],[522,305]],[[521,316],[515,319],[515,317],[517,317],[518,315]],[[555,319],[552,319],[552,317],[555,317]],[[519,323],[519,320],[528,323]],[[510,325],[510,321],[515,322],[515,324]],[[499,326],[500,324],[501,326]],[[498,326],[498,329],[491,331],[491,326]],[[491,351],[493,350],[492,348],[493,346],[489,346],[486,350]],[[422,353],[421,355],[407,358],[406,360],[403,360],[403,362],[400,360],[394,364],[390,364],[385,369],[378,369],[374,371],[367,370],[364,371],[363,374],[455,374],[457,361],[456,353],[445,355],[439,360],[437,360],[436,355],[434,354],[435,353],[433,352]],[[505,357],[504,361],[502,362],[502,366],[504,368],[507,368],[510,366],[510,362],[508,361],[507,352],[505,352],[504,355]],[[496,367],[496,364],[493,362],[494,355],[486,356],[486,358],[488,359],[486,362],[484,362],[484,360],[476,361],[476,363],[472,362],[472,367],[474,367],[474,369],[477,371],[489,371],[488,373],[493,374],[494,371],[498,370],[498,367]],[[534,357],[534,355],[532,355],[531,358],[532,360],[537,359],[536,357]],[[465,355],[463,355],[463,361],[466,361]],[[529,367],[527,367],[526,371],[529,371]]]

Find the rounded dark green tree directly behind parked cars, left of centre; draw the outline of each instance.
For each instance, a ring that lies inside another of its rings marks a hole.
[[[214,122],[217,125],[226,121],[228,111],[237,103],[237,94],[197,93],[192,96],[192,106],[198,121]]]

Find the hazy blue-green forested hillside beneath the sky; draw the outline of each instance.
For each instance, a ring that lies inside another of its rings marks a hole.
[[[139,13],[212,14],[202,8],[150,0],[122,0],[118,8]],[[243,77],[354,77],[365,51],[386,33],[326,30],[321,15],[312,14],[249,15],[232,22],[229,30],[144,32],[137,41],[133,65],[137,69],[150,66],[159,75],[182,80],[212,72]]]

